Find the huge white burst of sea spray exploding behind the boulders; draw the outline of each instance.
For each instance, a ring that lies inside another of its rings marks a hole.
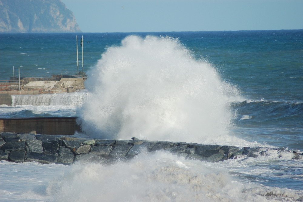
[[[85,133],[105,139],[226,141],[235,87],[178,39],[128,36],[88,72],[78,114]],[[232,141],[231,141],[232,142]]]

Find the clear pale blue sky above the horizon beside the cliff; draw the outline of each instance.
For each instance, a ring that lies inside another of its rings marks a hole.
[[[303,29],[303,0],[61,0],[84,33]]]

